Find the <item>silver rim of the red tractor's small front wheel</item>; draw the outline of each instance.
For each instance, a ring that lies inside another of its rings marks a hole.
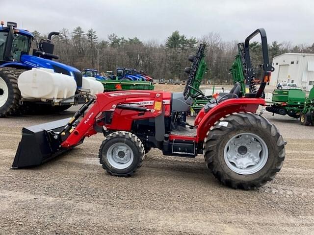
[[[108,148],[106,154],[110,165],[117,169],[128,168],[134,159],[131,147],[125,143],[115,143]]]

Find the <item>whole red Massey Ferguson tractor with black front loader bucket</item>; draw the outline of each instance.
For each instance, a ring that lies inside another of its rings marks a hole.
[[[264,30],[258,29],[245,42],[248,44],[259,33],[265,41]],[[256,114],[259,105],[265,106],[261,96],[273,70],[268,52],[264,54],[263,68],[257,93],[241,96],[240,85],[236,83],[229,94],[209,100],[194,124],[185,120],[192,104],[191,81],[187,81],[184,93],[97,94],[71,120],[23,128],[12,168],[42,164],[82,143],[86,137],[103,133],[105,140],[100,145],[99,159],[111,175],[133,175],[142,165],[145,153],[158,148],[169,156],[193,158],[204,154],[207,166],[224,185],[261,187],[274,179],[285,158],[285,141],[278,129]],[[196,92],[206,97],[201,91]]]

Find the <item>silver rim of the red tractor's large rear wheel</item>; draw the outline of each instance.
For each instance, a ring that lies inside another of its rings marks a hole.
[[[254,174],[264,167],[267,159],[268,148],[265,141],[253,133],[235,135],[224,148],[224,160],[237,174]]]

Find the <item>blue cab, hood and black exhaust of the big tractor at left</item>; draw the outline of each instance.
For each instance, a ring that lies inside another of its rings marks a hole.
[[[82,86],[82,74],[72,66],[68,66],[52,59],[58,59],[53,54],[52,36],[59,32],[51,32],[47,40],[40,40],[38,49],[33,49],[29,55],[34,36],[24,30],[16,28],[16,23],[8,22],[7,26],[0,26],[0,67],[31,70],[32,68],[52,69],[54,72],[73,76],[78,89]]]

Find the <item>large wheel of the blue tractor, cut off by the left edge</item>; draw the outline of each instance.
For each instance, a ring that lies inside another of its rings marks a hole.
[[[20,106],[19,73],[15,68],[0,68],[0,118],[15,114]]]

